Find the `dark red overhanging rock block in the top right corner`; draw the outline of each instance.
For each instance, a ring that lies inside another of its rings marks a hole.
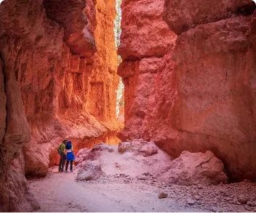
[[[237,14],[252,14],[254,6],[253,0],[166,0],[164,20],[171,30],[180,34],[198,25],[236,17]]]

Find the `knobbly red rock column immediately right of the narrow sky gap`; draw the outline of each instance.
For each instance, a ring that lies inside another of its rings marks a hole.
[[[156,72],[164,69],[176,35],[162,20],[164,1],[123,1],[121,7],[123,62],[118,72],[125,87],[125,127],[119,138],[126,141],[141,136]]]

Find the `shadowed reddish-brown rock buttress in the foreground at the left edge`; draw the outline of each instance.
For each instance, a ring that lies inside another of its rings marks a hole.
[[[20,153],[23,145],[30,141],[29,127],[12,60],[2,51],[0,56],[0,212],[31,212],[31,204],[35,202],[26,188],[24,160]],[[20,160],[15,161],[17,158]]]

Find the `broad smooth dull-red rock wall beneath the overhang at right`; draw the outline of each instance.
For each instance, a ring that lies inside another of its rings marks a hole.
[[[255,5],[222,2],[225,7],[204,11],[199,18],[190,3],[186,15],[199,22],[207,17],[209,23],[191,26],[188,21],[191,30],[178,37],[173,52],[178,83],[175,127],[185,132],[179,149],[212,149],[225,162],[231,179],[255,180],[255,46],[250,38]],[[199,7],[209,7],[207,3],[199,2]],[[175,25],[167,15],[172,14],[171,7],[166,11],[169,26]],[[213,22],[223,9],[232,14],[226,12],[228,18]],[[169,146],[174,148],[175,143]]]

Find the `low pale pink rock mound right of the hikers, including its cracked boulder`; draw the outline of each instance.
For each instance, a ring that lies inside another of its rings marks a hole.
[[[161,180],[167,184],[193,185],[227,183],[224,164],[212,154],[183,151],[173,159],[153,142],[141,139],[119,146],[98,143],[79,151],[76,180],[97,180],[105,175],[137,180]],[[132,166],[131,166],[132,165]]]

